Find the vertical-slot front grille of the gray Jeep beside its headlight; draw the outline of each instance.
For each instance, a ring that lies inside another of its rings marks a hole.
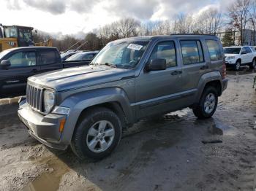
[[[42,111],[42,89],[31,85],[26,86],[26,101],[33,109]]]

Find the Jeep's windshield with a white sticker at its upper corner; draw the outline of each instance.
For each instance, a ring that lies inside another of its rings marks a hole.
[[[146,50],[148,41],[110,42],[91,61],[91,64],[114,66],[120,69],[133,69]]]

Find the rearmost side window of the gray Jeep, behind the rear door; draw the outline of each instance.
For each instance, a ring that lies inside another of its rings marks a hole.
[[[216,40],[206,40],[206,46],[208,48],[211,61],[222,60],[222,51]]]

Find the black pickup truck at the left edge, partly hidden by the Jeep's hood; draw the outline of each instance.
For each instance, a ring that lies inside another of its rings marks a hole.
[[[0,52],[0,98],[26,93],[27,78],[57,69],[88,65],[88,61],[61,61],[55,47],[18,47]]]

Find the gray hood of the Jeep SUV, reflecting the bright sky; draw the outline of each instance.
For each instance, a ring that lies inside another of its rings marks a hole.
[[[133,70],[108,66],[81,66],[37,74],[29,77],[31,84],[50,87],[56,91],[70,90],[91,85],[113,82],[134,75]]]

